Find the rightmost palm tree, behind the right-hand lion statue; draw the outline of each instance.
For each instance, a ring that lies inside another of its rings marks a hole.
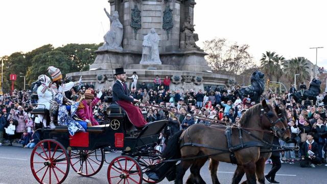
[[[310,67],[308,60],[304,57],[296,57],[287,62],[284,62],[284,72],[289,79],[294,81],[294,75],[299,74],[297,81],[310,80]],[[296,87],[296,86],[295,86]]]

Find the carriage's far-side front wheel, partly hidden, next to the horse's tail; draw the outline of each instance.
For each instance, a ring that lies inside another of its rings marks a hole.
[[[145,173],[147,170],[152,169],[157,164],[160,163],[159,156],[161,156],[161,152],[154,149],[153,152],[150,153],[152,156],[138,156],[137,162],[142,168],[142,172]],[[143,174],[143,180],[148,183],[158,183],[159,181],[155,181],[150,179],[146,174]]]

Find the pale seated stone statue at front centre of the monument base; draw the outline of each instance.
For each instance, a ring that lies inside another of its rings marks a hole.
[[[152,28],[150,32],[144,36],[142,43],[142,59],[140,64],[161,64],[159,58],[159,41],[160,38],[158,34],[155,32],[154,28]]]

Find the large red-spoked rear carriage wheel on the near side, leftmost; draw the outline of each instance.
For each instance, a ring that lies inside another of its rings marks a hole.
[[[69,172],[66,149],[55,140],[42,140],[31,154],[31,170],[39,183],[62,183]]]

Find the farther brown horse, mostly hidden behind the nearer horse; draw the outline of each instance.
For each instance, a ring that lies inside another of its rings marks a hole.
[[[283,124],[286,127],[286,130],[284,132],[284,137],[281,137],[283,140],[288,141],[291,137],[291,132],[287,124],[287,113],[285,108],[277,108],[275,107],[275,112],[278,114],[278,117],[281,117],[281,120],[283,120]],[[286,137],[287,136],[287,137]],[[263,140],[266,142],[269,142],[272,144],[274,135],[271,133],[264,133]],[[271,152],[266,152],[266,151],[271,151],[271,146],[267,147],[261,147],[260,151],[263,151],[264,153],[260,153],[260,158],[259,160],[255,163],[255,174],[258,179],[258,182],[260,183],[265,183],[265,162],[266,160],[271,156]],[[209,163],[209,170],[213,170],[211,173],[215,173],[212,175],[212,180],[214,184],[218,184],[218,177],[217,177],[217,169],[218,169],[219,162],[216,160],[210,160]],[[234,173],[232,183],[239,183],[244,175],[244,169],[241,165],[237,166],[237,169]],[[242,183],[246,183],[247,181],[244,181]]]

